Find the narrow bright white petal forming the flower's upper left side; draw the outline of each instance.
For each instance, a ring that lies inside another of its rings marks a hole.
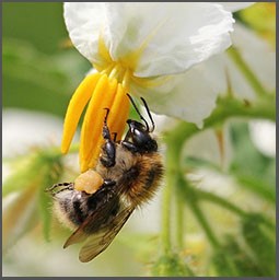
[[[98,36],[105,25],[102,2],[66,2],[63,16],[72,44],[91,62],[100,62]]]

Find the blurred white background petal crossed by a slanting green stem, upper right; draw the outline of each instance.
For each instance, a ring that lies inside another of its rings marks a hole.
[[[232,37],[234,46],[263,86],[270,92],[274,91],[276,88],[276,54],[271,46],[253,31],[240,24],[235,24],[235,32]],[[201,62],[199,68],[208,78],[204,79],[202,82],[207,83],[208,88],[211,86],[217,93],[225,94],[231,86],[233,95],[239,98],[254,100],[256,97],[256,93],[247,79],[226,54],[211,57]],[[193,75],[193,80],[197,83],[201,82],[200,75]]]

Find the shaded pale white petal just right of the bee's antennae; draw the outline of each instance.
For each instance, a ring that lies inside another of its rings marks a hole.
[[[211,114],[218,95],[200,65],[171,77],[161,86],[132,84],[131,92],[144,96],[152,112],[195,122],[198,127]]]

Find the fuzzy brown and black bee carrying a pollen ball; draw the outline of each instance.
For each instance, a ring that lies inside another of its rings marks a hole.
[[[95,170],[81,174],[73,183],[56,184],[48,189],[58,219],[74,230],[63,248],[84,242],[79,254],[82,262],[108,247],[132,211],[154,196],[163,176],[162,158],[151,136],[155,126],[148,105],[141,97],[151,127],[131,96],[127,96],[143,122],[128,119],[124,140],[115,141],[107,127],[106,108],[105,142]]]

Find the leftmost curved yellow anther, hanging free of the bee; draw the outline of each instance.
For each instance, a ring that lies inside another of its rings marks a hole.
[[[82,110],[88,104],[100,77],[100,73],[85,77],[70,100],[63,124],[62,153],[67,153],[69,150]]]

